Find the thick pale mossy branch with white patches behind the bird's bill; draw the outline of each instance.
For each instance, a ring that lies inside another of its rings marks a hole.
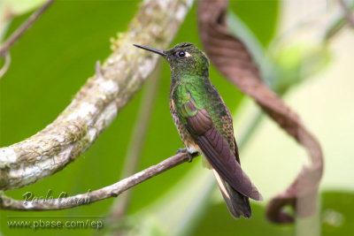
[[[132,43],[165,48],[181,26],[189,0],[147,0],[114,51],[53,123],[25,141],[0,148],[0,189],[24,187],[62,170],[85,152],[154,71],[158,56]],[[176,12],[171,14],[171,12]]]

